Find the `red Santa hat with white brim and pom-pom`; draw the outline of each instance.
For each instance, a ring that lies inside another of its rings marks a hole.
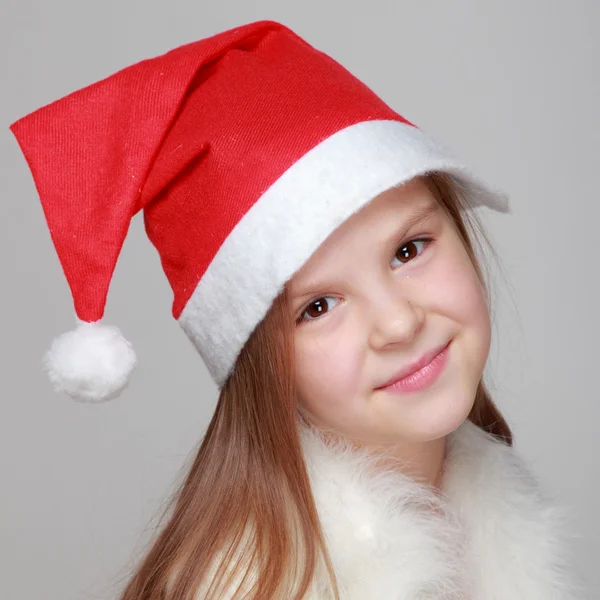
[[[384,190],[431,171],[471,206],[504,194],[328,55],[273,21],[143,60],[11,125],[78,325],[45,357],[55,389],[115,397],[136,359],[101,321],[129,223],[144,211],[179,321],[221,389],[286,281]]]

